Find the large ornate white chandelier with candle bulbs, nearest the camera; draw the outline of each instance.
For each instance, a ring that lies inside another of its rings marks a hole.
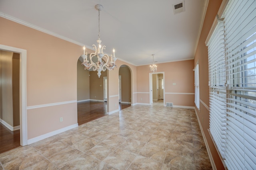
[[[106,69],[108,70],[113,70],[114,67],[116,66],[116,57],[115,57],[115,49],[113,49],[113,56],[111,55],[111,61],[109,62],[109,56],[107,54],[103,53],[103,50],[105,49],[105,45],[101,46],[101,40],[100,40],[100,11],[103,9],[103,6],[100,4],[97,4],[95,6],[96,10],[98,10],[99,12],[99,34],[98,34],[98,48],[96,47],[96,45],[92,45],[93,48],[95,49],[94,53],[90,54],[90,61],[87,60],[87,52],[85,52],[85,46],[83,47],[84,49],[84,54],[81,55],[81,57],[84,59],[84,62],[81,65],[84,65],[84,70],[90,70],[91,68],[93,69],[93,71],[98,71],[98,77],[100,78],[101,75],[101,71],[106,71]],[[94,63],[92,61],[92,57],[98,57],[98,62]],[[103,59],[105,57],[105,59]]]

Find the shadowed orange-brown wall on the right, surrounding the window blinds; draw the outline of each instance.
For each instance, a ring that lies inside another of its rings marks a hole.
[[[209,86],[208,86],[208,48],[205,41],[208,33],[212,27],[212,23],[216,17],[216,14],[220,8],[222,0],[209,0],[206,16],[204,18],[204,24],[202,27],[198,47],[196,49],[196,55],[194,57],[194,66],[199,63],[199,80],[200,80],[200,110],[196,107],[199,123],[202,127],[206,143],[210,149],[214,164],[218,170],[224,169],[224,166],[218,156],[218,152],[214,147],[213,141],[208,132],[209,129]],[[206,105],[206,106],[205,106]]]

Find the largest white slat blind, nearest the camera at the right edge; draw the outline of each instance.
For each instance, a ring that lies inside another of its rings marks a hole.
[[[228,169],[256,169],[256,1],[230,0],[224,11]]]

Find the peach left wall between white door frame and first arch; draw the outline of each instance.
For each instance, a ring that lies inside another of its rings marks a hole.
[[[28,139],[76,125],[77,61],[82,47],[1,17],[0,23],[0,44],[27,50]],[[54,103],[60,104],[48,105]]]

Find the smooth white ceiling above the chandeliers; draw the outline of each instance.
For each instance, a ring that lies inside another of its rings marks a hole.
[[[0,0],[0,16],[48,31],[92,48],[100,38],[105,52],[128,63],[145,65],[194,59],[206,0]],[[18,20],[17,20],[18,19]],[[82,47],[81,47],[82,54]]]

